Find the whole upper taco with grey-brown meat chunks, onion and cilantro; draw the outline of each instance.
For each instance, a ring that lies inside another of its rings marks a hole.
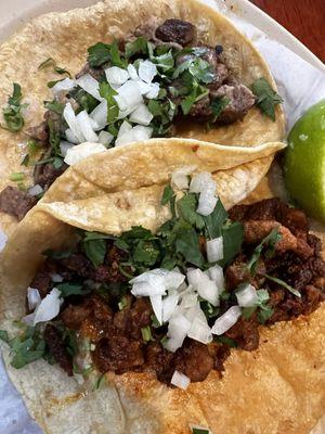
[[[0,209],[18,219],[68,165],[106,148],[156,137],[283,139],[264,61],[197,1],[106,1],[43,15],[2,44],[0,77],[9,129],[0,131]],[[16,220],[1,213],[1,221],[9,230]]]

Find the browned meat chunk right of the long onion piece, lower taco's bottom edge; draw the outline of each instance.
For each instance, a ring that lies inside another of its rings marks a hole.
[[[257,349],[260,342],[258,321],[252,315],[249,319],[239,318],[239,320],[225,332],[225,336],[236,341],[238,346],[247,352]]]

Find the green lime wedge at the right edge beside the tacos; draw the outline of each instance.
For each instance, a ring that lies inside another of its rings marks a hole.
[[[325,221],[325,100],[310,107],[291,129],[284,174],[297,203]]]

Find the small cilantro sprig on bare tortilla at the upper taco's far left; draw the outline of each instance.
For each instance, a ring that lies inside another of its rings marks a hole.
[[[22,110],[26,108],[27,104],[22,104],[22,87],[17,84],[13,84],[13,93],[8,99],[8,105],[2,108],[3,118],[5,120],[5,127],[11,132],[21,131],[24,127],[25,122],[22,115]]]

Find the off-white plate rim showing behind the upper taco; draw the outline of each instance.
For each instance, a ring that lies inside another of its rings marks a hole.
[[[49,11],[67,11],[94,4],[95,0],[1,0],[0,41],[30,18]],[[300,58],[325,72],[324,64],[283,26],[250,3],[249,0],[206,0],[218,9],[232,8],[232,11],[294,51]]]

